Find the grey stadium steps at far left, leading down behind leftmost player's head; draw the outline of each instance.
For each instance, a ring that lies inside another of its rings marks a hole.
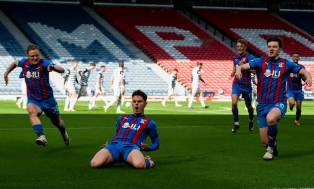
[[[0,22],[9,30],[12,36],[21,44],[21,46],[26,50],[30,41],[26,36],[20,31],[20,29],[4,14],[0,9]]]

